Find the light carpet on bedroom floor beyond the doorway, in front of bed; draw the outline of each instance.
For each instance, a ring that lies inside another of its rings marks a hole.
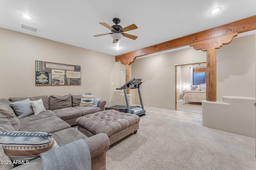
[[[177,110],[202,114],[202,103],[186,102],[186,104],[183,104],[182,99],[177,100]]]

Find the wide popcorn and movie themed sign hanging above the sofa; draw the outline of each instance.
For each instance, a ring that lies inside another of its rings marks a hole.
[[[81,66],[36,61],[36,86],[81,85]]]

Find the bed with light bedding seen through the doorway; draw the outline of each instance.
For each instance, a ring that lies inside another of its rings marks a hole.
[[[202,103],[202,100],[206,100],[206,91],[188,90],[183,92],[182,97],[183,104],[186,104],[186,102]]]

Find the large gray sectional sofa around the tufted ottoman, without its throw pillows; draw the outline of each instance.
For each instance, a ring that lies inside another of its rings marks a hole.
[[[108,136],[104,133],[100,133],[93,137],[87,137],[77,129],[71,127],[75,125],[75,121],[78,117],[104,110],[106,105],[104,100],[99,100],[98,107],[95,107],[79,106],[81,100],[80,95],[68,94],[66,96],[51,95],[29,97],[30,101],[42,99],[46,111],[38,115],[31,114],[18,119],[14,109],[10,106],[10,102],[25,99],[27,98],[12,97],[9,99],[0,99],[0,132],[28,131],[51,133],[52,138],[59,147],[78,139],[84,139],[90,149],[92,169],[104,170],[106,168],[105,152],[110,146]],[[2,150],[2,145],[0,145],[0,158],[6,156],[1,152]],[[1,166],[3,165],[0,165],[0,169]],[[30,160],[28,164],[22,164],[13,169],[40,170],[40,158]]]

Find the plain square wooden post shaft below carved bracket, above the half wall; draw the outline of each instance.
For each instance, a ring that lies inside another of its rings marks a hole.
[[[217,68],[216,49],[206,51],[206,100],[216,102],[217,100]]]

